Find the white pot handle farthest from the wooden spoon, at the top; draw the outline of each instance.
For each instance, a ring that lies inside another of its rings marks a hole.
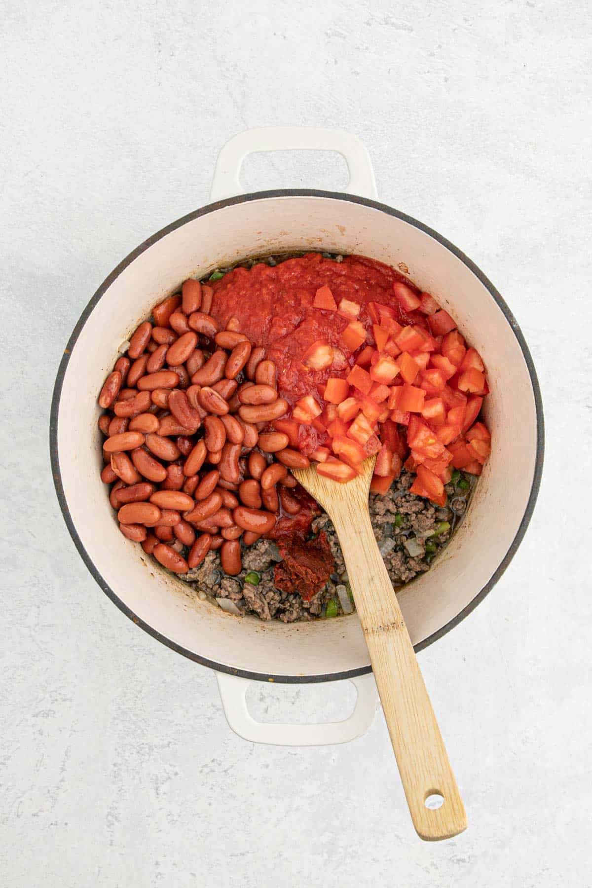
[[[239,173],[247,155],[260,151],[336,151],[350,171],[347,194],[375,199],[376,183],[367,147],[351,132],[316,126],[262,126],[237,133],[220,149],[209,193],[211,202],[243,194]]]

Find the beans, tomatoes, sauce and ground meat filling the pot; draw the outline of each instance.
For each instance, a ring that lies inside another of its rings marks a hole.
[[[429,569],[490,451],[485,368],[389,266],[319,253],[185,281],[99,394],[122,534],[230,613],[351,613],[328,516],[290,468],[346,482],[377,454],[370,513],[393,586]]]

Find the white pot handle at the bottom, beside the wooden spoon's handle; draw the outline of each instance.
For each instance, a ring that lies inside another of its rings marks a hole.
[[[321,722],[317,725],[281,725],[258,722],[247,706],[249,678],[216,673],[225,717],[234,733],[252,743],[272,743],[274,746],[328,746],[347,743],[360,737],[372,725],[378,704],[378,694],[372,673],[349,680],[356,686],[358,698],[349,718],[340,722]]]

